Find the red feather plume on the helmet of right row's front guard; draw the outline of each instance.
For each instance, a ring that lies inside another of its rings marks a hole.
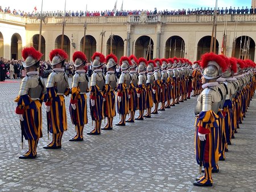
[[[215,53],[205,53],[202,55],[202,61],[200,63],[201,68],[206,68],[208,66],[209,61],[215,61],[222,69],[222,72],[225,72],[227,69],[226,62],[220,55],[216,55]]]

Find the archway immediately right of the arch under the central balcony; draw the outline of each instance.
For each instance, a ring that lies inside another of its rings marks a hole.
[[[180,36],[171,36],[166,41],[165,58],[185,57],[185,41]]]

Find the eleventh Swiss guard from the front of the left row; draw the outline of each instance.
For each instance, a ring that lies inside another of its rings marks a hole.
[[[161,72],[161,82],[160,82],[160,102],[162,103],[162,106],[159,108],[159,111],[164,111],[166,110],[166,91],[167,91],[167,79],[168,79],[168,74],[167,74],[167,65],[168,65],[168,60],[167,59],[161,59],[162,61],[162,72]]]

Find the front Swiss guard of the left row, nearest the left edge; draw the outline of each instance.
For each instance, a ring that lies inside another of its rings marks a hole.
[[[22,145],[24,135],[28,141],[28,151],[19,158],[36,158],[36,147],[39,138],[43,136],[41,106],[47,99],[47,92],[44,80],[37,70],[42,55],[34,47],[22,50],[22,64],[27,70],[27,75],[23,78],[18,97],[14,101],[17,102],[15,112],[19,116],[22,129]]]

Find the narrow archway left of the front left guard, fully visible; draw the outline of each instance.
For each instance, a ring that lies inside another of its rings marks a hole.
[[[11,36],[11,59],[22,59],[22,39],[19,34]]]

